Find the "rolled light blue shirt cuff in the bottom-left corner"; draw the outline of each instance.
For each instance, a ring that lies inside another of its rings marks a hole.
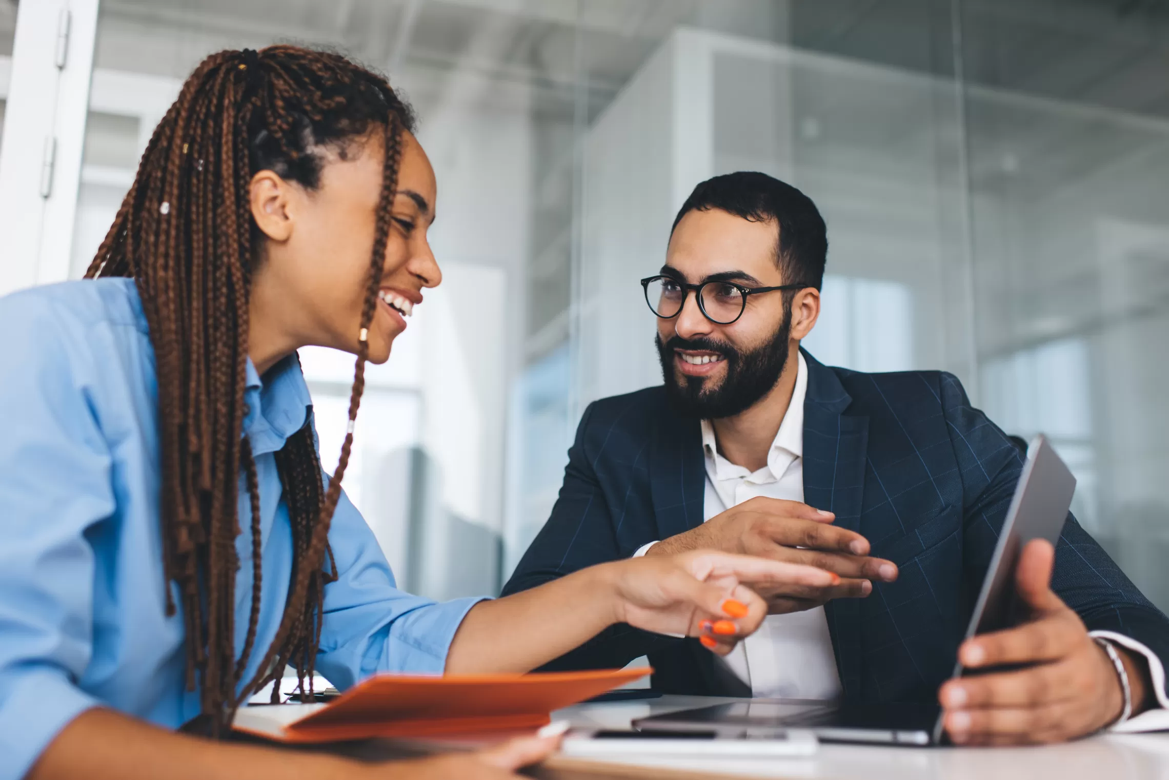
[[[0,698],[0,780],[19,780],[56,736],[97,699],[44,667],[19,674]]]

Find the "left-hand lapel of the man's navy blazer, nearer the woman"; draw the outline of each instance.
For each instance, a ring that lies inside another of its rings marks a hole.
[[[706,467],[698,420],[667,410],[653,433],[649,467],[658,538],[701,525]]]

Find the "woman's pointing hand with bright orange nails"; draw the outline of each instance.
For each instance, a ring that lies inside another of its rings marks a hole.
[[[767,603],[750,586],[825,587],[839,576],[802,564],[694,550],[603,564],[616,590],[616,621],[659,634],[698,636],[719,655],[753,634]]]

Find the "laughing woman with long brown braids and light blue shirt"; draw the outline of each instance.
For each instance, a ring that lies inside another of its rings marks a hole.
[[[395,589],[341,478],[365,363],[441,280],[413,121],[336,54],[212,55],[89,278],[0,300],[0,780],[512,776],[555,740],[379,766],[215,738],[286,666],[521,673],[616,624],[726,653],[766,612],[746,583],[835,577],[699,552],[497,600]],[[332,475],[309,344],[357,355]]]

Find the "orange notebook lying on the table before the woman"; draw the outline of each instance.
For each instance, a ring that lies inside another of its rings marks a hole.
[[[526,675],[378,675],[327,704],[240,708],[233,727],[285,743],[535,729],[548,723],[553,710],[650,671],[642,667]]]

